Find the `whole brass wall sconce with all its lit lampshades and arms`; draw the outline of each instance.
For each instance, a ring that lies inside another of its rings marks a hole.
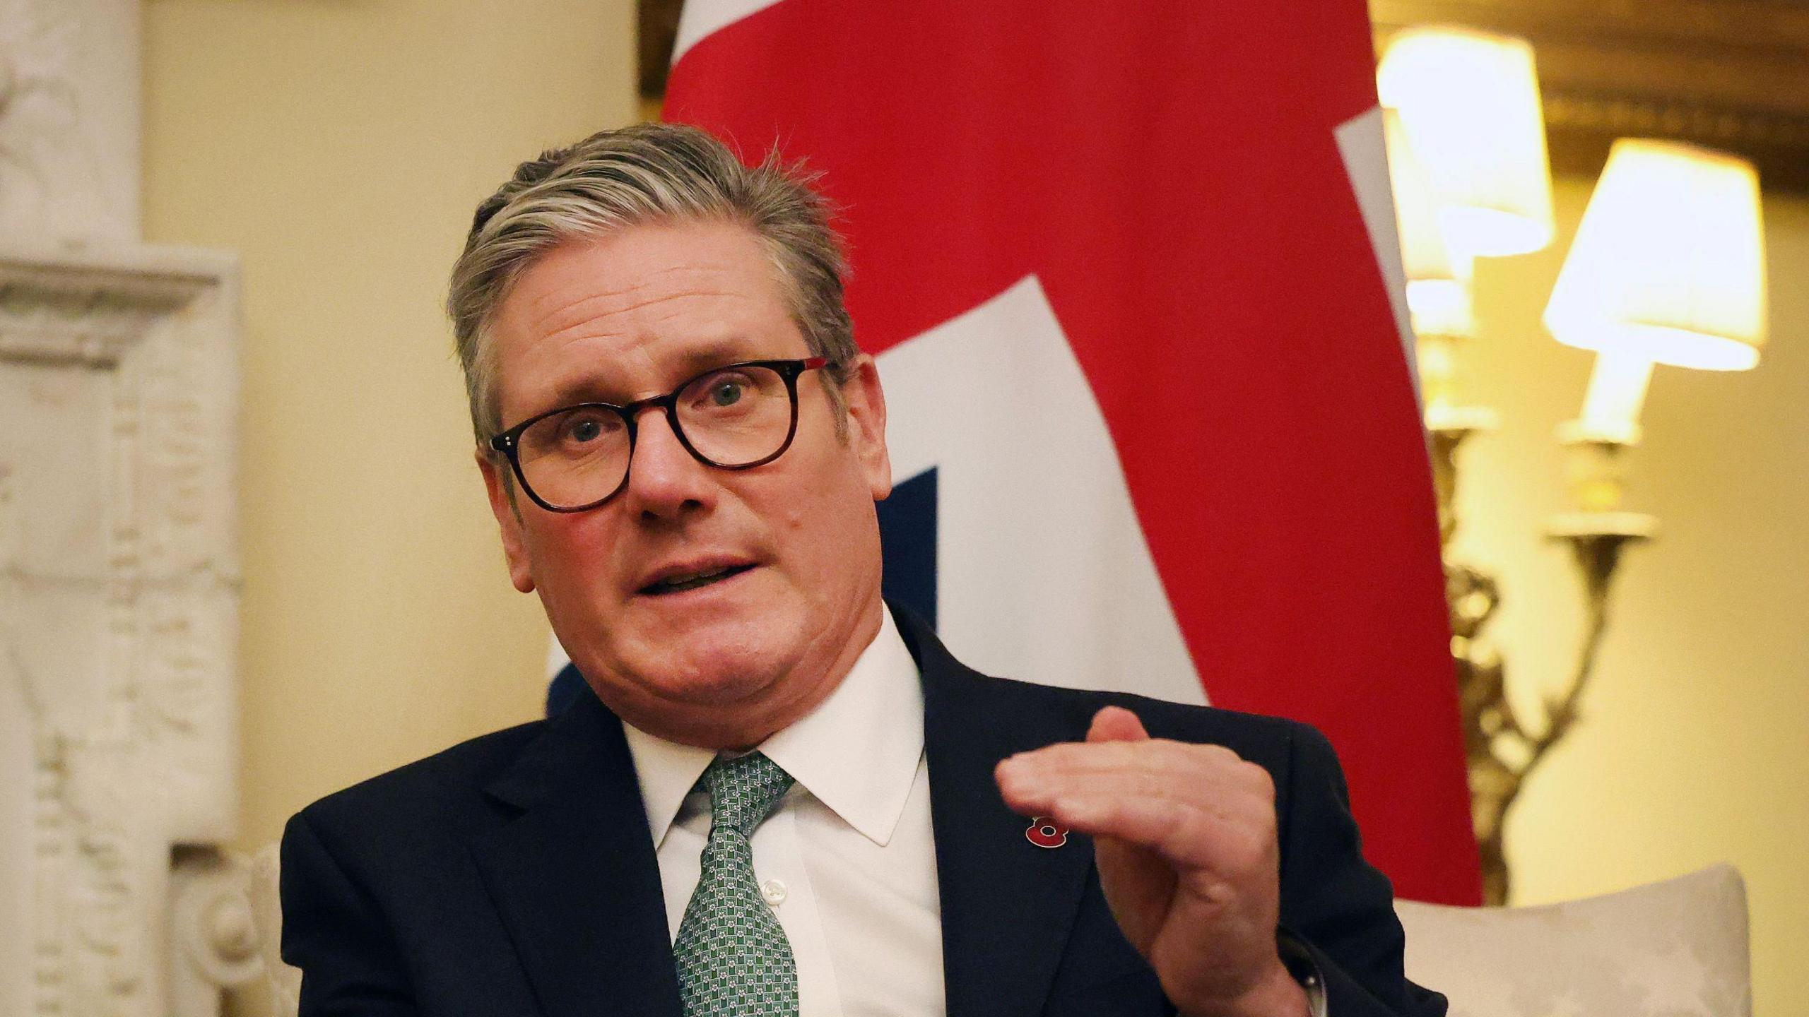
[[[1652,367],[1758,362],[1766,335],[1758,177],[1733,156],[1621,139],[1590,197],[1545,309],[1559,342],[1597,351],[1583,413],[1558,434],[1570,451],[1574,505],[1547,527],[1550,539],[1570,547],[1583,577],[1586,635],[1568,684],[1547,695],[1543,717],[1529,724],[1507,700],[1505,666],[1483,635],[1500,604],[1498,585],[1454,557],[1453,536],[1458,447],[1496,427],[1494,411],[1467,405],[1458,384],[1462,347],[1476,335],[1471,259],[1534,252],[1554,233],[1532,47],[1469,29],[1406,29],[1382,54],[1377,92],[1418,337],[1471,820],[1485,899],[1505,903],[1507,811],[1576,720],[1621,550],[1657,530],[1652,516],[1619,510],[1624,452],[1639,442]]]

